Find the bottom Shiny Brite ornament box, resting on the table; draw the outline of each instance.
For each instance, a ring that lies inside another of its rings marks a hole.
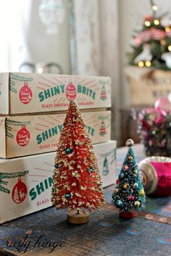
[[[116,178],[116,141],[93,146],[103,186]],[[0,160],[0,223],[51,206],[56,152]]]

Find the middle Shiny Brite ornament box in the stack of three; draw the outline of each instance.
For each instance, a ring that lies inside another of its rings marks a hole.
[[[82,112],[93,144],[109,141],[111,112]],[[65,114],[0,116],[0,157],[11,158],[57,149]]]

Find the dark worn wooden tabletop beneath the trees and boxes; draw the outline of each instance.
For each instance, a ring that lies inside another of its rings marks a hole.
[[[140,144],[134,152],[138,162],[145,157]],[[126,153],[117,149],[117,175]],[[170,256],[171,198],[147,197],[137,218],[123,220],[111,205],[112,189],[104,189],[107,205],[92,212],[89,223],[70,225],[66,210],[49,207],[2,224],[0,246],[26,256]]]

